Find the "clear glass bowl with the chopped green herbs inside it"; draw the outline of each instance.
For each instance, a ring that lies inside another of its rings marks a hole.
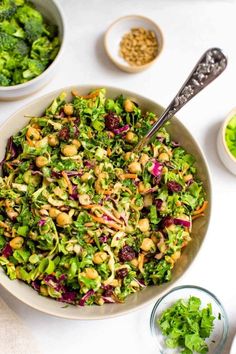
[[[176,287],[160,298],[150,326],[161,354],[221,354],[228,335],[222,304],[195,285]]]

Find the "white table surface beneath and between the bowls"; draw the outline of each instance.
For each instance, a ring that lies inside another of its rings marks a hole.
[[[204,246],[176,285],[206,287],[222,301],[230,322],[224,354],[229,353],[236,332],[236,177],[223,167],[218,158],[216,136],[222,120],[236,106],[236,1],[57,1],[64,9],[69,30],[61,71],[33,97],[11,103],[1,102],[1,122],[33,98],[76,83],[113,85],[133,90],[165,106],[203,51],[218,46],[228,55],[225,73],[178,114],[207,156],[214,200]],[[148,16],[160,25],[165,47],[153,67],[139,74],[127,74],[116,69],[106,57],[103,33],[116,18],[134,13]],[[144,309],[123,317],[86,322],[57,319],[32,310],[1,286],[0,294],[31,328],[43,354],[157,352],[149,331],[154,301]]]

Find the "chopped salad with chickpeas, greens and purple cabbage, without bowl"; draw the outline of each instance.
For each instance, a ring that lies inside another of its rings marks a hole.
[[[0,177],[0,264],[39,294],[123,302],[171,279],[207,201],[194,158],[157,119],[105,89],[62,93],[8,141]]]

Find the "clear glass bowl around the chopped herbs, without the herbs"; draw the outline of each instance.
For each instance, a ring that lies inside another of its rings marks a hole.
[[[155,304],[150,318],[151,333],[159,352],[162,354],[179,354],[180,349],[167,348],[165,337],[161,333],[157,320],[162,312],[173,305],[177,300],[188,300],[190,296],[196,296],[201,299],[201,308],[211,303],[212,312],[215,316],[214,329],[211,336],[205,341],[209,348],[209,354],[220,354],[224,348],[228,335],[228,318],[227,314],[215,295],[210,291],[194,285],[183,285],[172,289],[166,295],[161,297]]]

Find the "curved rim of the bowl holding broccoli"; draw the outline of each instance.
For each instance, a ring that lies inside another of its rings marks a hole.
[[[0,86],[0,93],[1,92],[11,92],[11,91],[15,91],[18,89],[19,90],[24,89],[25,87],[28,87],[31,84],[37,83],[38,81],[42,80],[49,73],[49,71],[51,71],[53,69],[53,67],[57,64],[57,62],[60,60],[60,57],[61,57],[62,53],[64,52],[64,48],[65,48],[65,35],[67,33],[67,25],[66,25],[65,17],[63,15],[63,10],[62,10],[61,5],[58,2],[56,2],[55,0],[50,0],[50,1],[53,3],[55,8],[57,9],[58,15],[59,15],[61,23],[62,23],[62,38],[61,38],[60,48],[57,53],[57,56],[40,75],[36,76],[35,78],[33,78],[27,82],[22,83],[22,84],[12,85],[12,86]]]

